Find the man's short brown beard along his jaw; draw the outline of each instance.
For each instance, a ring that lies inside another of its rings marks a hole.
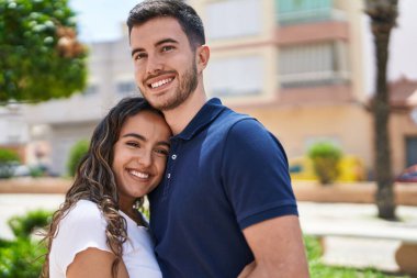
[[[196,65],[195,65],[195,58],[190,66],[188,70],[180,77],[180,85],[174,91],[172,96],[168,94],[166,100],[164,101],[153,101],[151,98],[146,98],[149,103],[160,110],[160,111],[168,111],[178,108],[181,105],[195,90],[196,86],[199,85],[198,80],[198,74],[196,74]]]

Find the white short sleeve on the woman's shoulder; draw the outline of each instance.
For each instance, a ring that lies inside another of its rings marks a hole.
[[[105,237],[106,221],[94,202],[81,200],[59,222],[49,264],[64,275],[76,255],[94,247],[111,252]]]

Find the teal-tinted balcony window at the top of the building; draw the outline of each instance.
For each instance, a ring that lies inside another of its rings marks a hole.
[[[334,8],[333,0],[275,0],[280,25],[345,20],[345,13]]]

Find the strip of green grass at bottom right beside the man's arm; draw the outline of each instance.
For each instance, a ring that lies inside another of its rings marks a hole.
[[[319,241],[312,236],[305,236],[304,243],[307,249],[312,278],[409,278],[409,276],[383,274],[373,268],[356,269],[351,267],[326,266],[320,260],[323,249]]]

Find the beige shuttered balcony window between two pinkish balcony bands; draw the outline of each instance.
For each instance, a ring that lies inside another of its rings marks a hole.
[[[345,84],[350,76],[342,42],[282,47],[279,67],[282,88]]]

